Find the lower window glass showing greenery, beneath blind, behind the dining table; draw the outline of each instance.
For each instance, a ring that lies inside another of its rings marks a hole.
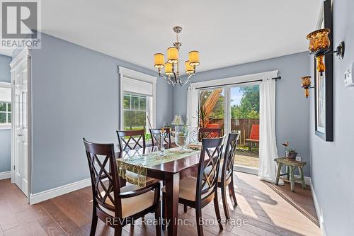
[[[124,130],[147,130],[152,108],[152,97],[140,94],[124,93],[123,120]]]

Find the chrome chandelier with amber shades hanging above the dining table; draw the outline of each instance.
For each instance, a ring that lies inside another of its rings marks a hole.
[[[183,82],[179,74],[178,52],[182,45],[178,41],[178,33],[181,33],[182,27],[175,26],[173,31],[176,33],[176,42],[173,47],[167,48],[167,62],[165,62],[164,54],[156,53],[154,55],[154,65],[159,71],[159,77],[166,79],[166,82],[176,86],[185,85],[195,74],[195,67],[199,65],[199,52],[190,51],[188,53],[188,61],[185,61],[185,74],[188,74],[187,79]],[[161,73],[161,69],[165,68],[165,73]]]

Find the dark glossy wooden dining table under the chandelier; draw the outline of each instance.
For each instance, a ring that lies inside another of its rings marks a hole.
[[[175,147],[180,148],[180,147]],[[119,162],[134,159],[147,159],[156,154],[158,159],[159,150],[156,147],[145,147],[137,150],[127,150],[116,152],[115,158]],[[166,153],[171,151],[166,150]],[[179,182],[185,176],[191,176],[198,172],[198,163],[200,159],[200,150],[193,150],[193,152],[181,152],[183,156],[178,159],[164,159],[161,157],[161,163],[153,163],[153,165],[146,165],[144,167],[144,174],[147,177],[159,179],[164,181],[165,196],[166,196],[166,230],[168,235],[177,235],[178,228],[178,197],[179,197]],[[166,155],[166,158],[169,155]],[[131,165],[134,165],[131,163]],[[141,164],[136,164],[137,169],[141,168]],[[118,168],[119,169],[119,168]]]

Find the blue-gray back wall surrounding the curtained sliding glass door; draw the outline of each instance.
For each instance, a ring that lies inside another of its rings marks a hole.
[[[292,148],[299,152],[302,160],[309,163],[309,100],[300,86],[300,77],[309,74],[307,52],[276,57],[269,60],[240,64],[232,67],[200,72],[192,82],[222,79],[244,74],[254,74],[279,70],[282,77],[276,83],[276,120],[278,154],[284,154],[282,142],[289,141]],[[187,86],[176,87],[173,91],[173,113],[185,119],[187,106]],[[310,164],[304,168],[305,176],[310,176]]]

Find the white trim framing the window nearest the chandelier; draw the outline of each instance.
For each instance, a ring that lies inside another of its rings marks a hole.
[[[153,77],[152,75],[149,74],[144,74],[142,72],[137,72],[132,69],[127,69],[125,67],[118,67],[118,72],[119,72],[119,79],[120,79],[120,120],[119,120],[119,128],[120,130],[124,129],[124,80],[125,78],[131,78],[131,79],[136,79],[142,82],[148,82],[152,83],[152,128],[156,127],[156,77]],[[132,92],[129,92],[130,94],[134,94]],[[146,96],[146,95],[144,95]],[[148,129],[149,124],[147,124],[147,129]]]

